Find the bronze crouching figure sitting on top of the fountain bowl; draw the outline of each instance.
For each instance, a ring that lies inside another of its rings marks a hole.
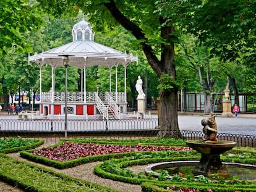
[[[218,143],[218,138],[216,138],[217,125],[215,117],[216,115],[213,115],[212,112],[210,112],[207,119],[202,119],[201,124],[203,125],[203,133],[205,133],[203,138],[205,143]]]

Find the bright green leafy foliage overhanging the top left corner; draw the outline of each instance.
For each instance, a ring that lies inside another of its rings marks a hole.
[[[18,51],[29,49],[24,33],[43,23],[38,3],[30,0],[0,1],[0,53],[14,46]]]

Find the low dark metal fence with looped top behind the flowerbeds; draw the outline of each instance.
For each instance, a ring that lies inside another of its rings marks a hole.
[[[44,138],[45,143],[56,143],[61,138],[156,138],[158,119],[121,120],[0,120],[0,138],[22,136],[22,138]],[[181,130],[182,139],[197,140],[202,131]],[[175,134],[171,134],[175,135]],[[237,146],[256,146],[255,135],[218,133],[219,140],[235,141]]]

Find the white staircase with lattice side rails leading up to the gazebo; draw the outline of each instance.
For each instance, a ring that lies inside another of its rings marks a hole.
[[[103,119],[121,119],[120,109],[108,92],[105,93],[105,99],[107,101],[106,104],[100,99],[98,94],[95,92],[96,108],[103,116]]]

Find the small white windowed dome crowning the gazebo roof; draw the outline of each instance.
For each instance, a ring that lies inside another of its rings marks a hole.
[[[73,41],[77,40],[94,40],[94,34],[90,23],[82,19],[80,22],[76,23],[72,28]]]

